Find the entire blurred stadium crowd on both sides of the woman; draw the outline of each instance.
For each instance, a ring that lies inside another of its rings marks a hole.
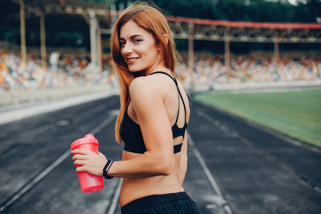
[[[110,56],[104,56],[103,62],[110,67]],[[188,86],[313,81],[321,79],[321,55],[281,55],[278,62],[271,55],[233,55],[230,67],[225,66],[224,56],[199,56],[191,67],[182,64],[180,72]],[[18,54],[0,50],[0,92],[106,84],[113,80],[112,72],[93,67],[86,54],[51,53],[44,69],[39,56],[29,55],[23,63]]]

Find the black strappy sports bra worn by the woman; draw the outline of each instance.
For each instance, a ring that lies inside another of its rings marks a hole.
[[[169,77],[171,77],[171,79],[174,81],[176,88],[177,88],[177,92],[178,92],[178,112],[177,112],[177,117],[176,117],[176,121],[175,124],[172,126],[172,132],[173,132],[173,139],[175,139],[178,136],[183,136],[185,135],[185,130],[187,128],[187,123],[186,123],[186,106],[183,100],[183,96],[182,93],[180,93],[178,85],[177,85],[177,80],[175,79],[175,77],[172,77],[171,75],[169,75],[166,72],[163,71],[156,71],[154,73],[151,74],[155,74],[155,73],[163,73],[168,75]],[[150,75],[151,75],[150,74]],[[183,101],[183,106],[184,106],[184,111],[185,111],[185,124],[182,128],[179,128],[177,126],[177,121],[178,121],[178,115],[179,115],[179,97],[180,99],[182,99]],[[124,150],[125,151],[130,151],[130,152],[134,152],[134,153],[141,153],[143,154],[145,151],[147,151],[146,147],[145,147],[145,143],[144,143],[144,139],[143,139],[143,134],[141,131],[141,127],[139,127],[139,125],[137,123],[135,123],[128,115],[128,107],[125,111],[124,114],[124,118],[121,124],[121,130],[119,131],[119,133],[121,134],[121,138],[124,141],[125,147]],[[178,145],[174,145],[174,153],[180,152],[181,148],[182,148],[183,143],[180,143]]]

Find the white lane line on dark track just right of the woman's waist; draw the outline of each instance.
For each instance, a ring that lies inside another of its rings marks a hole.
[[[198,149],[195,147],[195,144],[194,144],[194,142],[193,142],[193,140],[192,140],[192,138],[191,138],[191,136],[189,135],[188,132],[187,132],[187,139],[188,139],[188,140],[187,140],[187,141],[188,141],[188,144],[189,144],[190,147],[193,149],[193,152],[194,152],[194,154],[195,154],[195,156],[196,156],[196,158],[197,158],[200,166],[202,166],[202,168],[203,168],[203,170],[204,170],[204,172],[205,172],[205,174],[206,174],[206,177],[207,177],[207,179],[209,180],[210,184],[212,185],[213,189],[215,190],[217,196],[218,196],[219,198],[221,198],[223,201],[226,201],[226,200],[224,199],[224,196],[223,196],[222,192],[220,191],[220,189],[219,189],[219,187],[218,187],[215,179],[213,178],[213,176],[212,176],[209,168],[207,167],[204,159],[202,158],[202,155],[200,155]],[[230,208],[230,206],[229,206],[227,203],[224,204],[223,207],[224,207],[224,209],[226,210],[226,212],[227,212],[228,214],[232,214],[232,213],[233,213],[232,210],[231,210],[231,208]]]

